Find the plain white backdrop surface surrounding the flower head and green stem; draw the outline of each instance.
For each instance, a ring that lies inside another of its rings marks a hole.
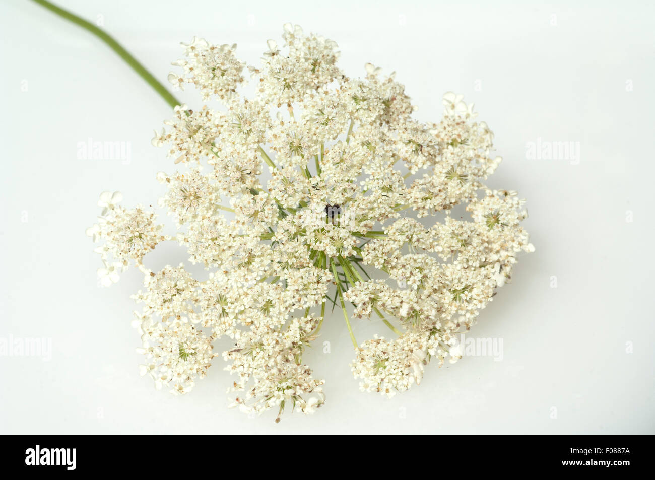
[[[51,339],[52,359],[0,356],[0,432],[655,433],[655,11],[649,1],[567,4],[60,0],[89,20],[102,15],[162,81],[179,41],[238,43],[255,64],[293,22],[337,41],[350,76],[365,62],[397,71],[418,119],[438,121],[443,92],[454,90],[495,132],[504,161],[489,185],[527,198],[536,246],[472,331],[502,338],[502,361],[435,363],[393,399],[364,394],[335,312],[322,339],[331,353],[318,348],[309,360],[326,378],[325,407],[274,424],[274,413],[226,409],[232,380],[220,358],[188,396],[138,375],[129,295],[141,276],[130,270],[98,288],[100,259],[84,230],[103,190],[122,191],[126,206],[162,194],[155,174],[174,167],[150,139],[170,109],[83,29],[3,1],[0,337]],[[193,90],[178,95],[201,105]],[[130,142],[131,161],[79,160],[88,138]],[[580,162],[527,159],[538,138],[580,142]],[[160,255],[151,268],[184,257],[172,247]],[[370,328],[355,331],[364,339]]]

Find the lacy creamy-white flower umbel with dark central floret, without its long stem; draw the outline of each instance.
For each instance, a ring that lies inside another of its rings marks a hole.
[[[214,342],[229,337],[233,404],[256,413],[323,405],[324,380],[303,356],[326,305],[343,313],[360,388],[392,396],[419,384],[431,358],[460,358],[458,333],[510,280],[517,253],[534,250],[523,200],[483,183],[500,157],[473,105],[449,92],[440,122],[423,124],[394,74],[367,64],[351,79],[333,41],[290,25],[283,37],[284,51],[269,41],[261,65],[248,67],[251,98],[236,45],[183,44],[183,72],[170,81],[223,107],[179,105],[153,138],[184,168],[157,175],[174,238],[154,213],[110,193],[88,230],[102,242],[102,284],[130,261],[145,274],[134,296],[144,305],[134,322],[142,373],[186,393],[217,356]],[[460,204],[470,219],[451,216]],[[423,218],[436,213],[442,221]],[[185,246],[208,280],[183,265],[145,268],[163,240]],[[350,320],[371,316],[394,339],[358,344]]]

